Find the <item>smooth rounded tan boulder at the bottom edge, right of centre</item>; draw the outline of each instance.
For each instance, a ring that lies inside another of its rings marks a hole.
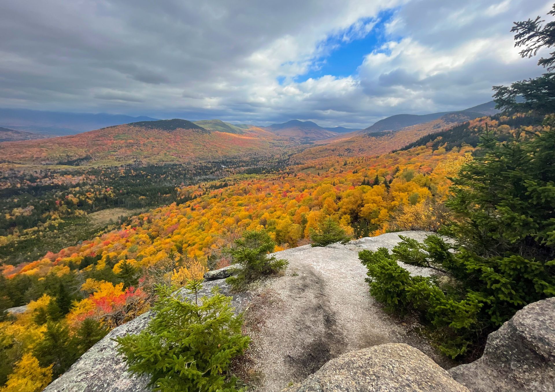
[[[330,360],[284,392],[468,392],[420,350],[381,344]]]

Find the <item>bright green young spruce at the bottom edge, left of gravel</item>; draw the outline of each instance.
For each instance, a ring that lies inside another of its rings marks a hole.
[[[235,379],[226,371],[248,348],[249,337],[241,334],[243,319],[234,315],[231,297],[216,287],[213,296],[198,298],[201,287],[191,281],[185,288],[194,300],[181,300],[171,287],[159,286],[147,328],[114,339],[129,370],[149,374],[154,390],[235,391]]]

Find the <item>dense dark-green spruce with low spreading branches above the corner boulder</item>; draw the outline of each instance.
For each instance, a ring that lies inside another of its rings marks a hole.
[[[440,349],[455,358],[528,303],[555,296],[555,131],[497,141],[487,130],[480,154],[453,179],[453,221],[423,244],[401,237],[393,254],[364,251],[370,292],[390,309],[428,322]],[[437,284],[411,277],[397,260],[447,273]]]

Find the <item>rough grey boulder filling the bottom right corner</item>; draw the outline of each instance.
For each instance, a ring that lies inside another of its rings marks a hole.
[[[471,392],[554,392],[555,298],[519,310],[488,336],[482,358],[449,373]]]

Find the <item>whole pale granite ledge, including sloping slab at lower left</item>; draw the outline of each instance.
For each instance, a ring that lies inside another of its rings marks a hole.
[[[289,261],[285,276],[267,279],[260,292],[234,294],[237,310],[244,310],[251,296],[259,303],[257,306],[252,301],[249,310],[253,339],[249,353],[254,370],[264,375],[259,391],[280,391],[289,381],[304,379],[341,354],[382,343],[410,343],[433,355],[427,342],[410,332],[410,326],[383,312],[364,281],[366,268],[358,253],[379,247],[391,249],[400,241],[398,234],[423,240],[429,233],[386,233],[346,245],[301,246],[277,252],[276,257]],[[413,274],[433,273],[429,268],[408,267]],[[206,278],[224,278],[227,273],[213,271]],[[229,295],[229,286],[222,280],[205,282],[203,291],[208,293],[216,285]],[[127,373],[112,338],[138,333],[151,317],[146,313],[114,329],[46,392],[145,391],[148,380]]]

